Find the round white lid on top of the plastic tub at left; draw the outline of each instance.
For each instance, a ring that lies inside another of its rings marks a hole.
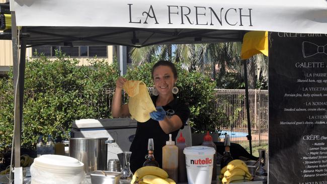
[[[33,164],[38,167],[58,170],[83,170],[84,163],[76,158],[62,155],[41,155],[34,159]]]

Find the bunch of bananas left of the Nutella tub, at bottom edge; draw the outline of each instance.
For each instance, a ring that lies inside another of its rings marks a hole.
[[[131,184],[176,184],[176,182],[168,178],[168,173],[154,166],[144,166],[137,169],[131,180]]]

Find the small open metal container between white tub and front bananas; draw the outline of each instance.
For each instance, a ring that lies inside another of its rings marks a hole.
[[[92,184],[119,184],[121,172],[95,170],[90,175]]]

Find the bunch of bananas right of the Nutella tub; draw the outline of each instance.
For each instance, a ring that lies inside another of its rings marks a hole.
[[[232,160],[220,171],[221,181],[223,184],[240,179],[252,180],[253,177],[249,172],[248,165],[242,160]]]

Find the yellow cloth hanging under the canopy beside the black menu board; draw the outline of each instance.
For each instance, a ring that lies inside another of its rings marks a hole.
[[[268,56],[268,32],[267,31],[250,31],[243,37],[242,49],[240,52],[241,59],[263,53]]]

